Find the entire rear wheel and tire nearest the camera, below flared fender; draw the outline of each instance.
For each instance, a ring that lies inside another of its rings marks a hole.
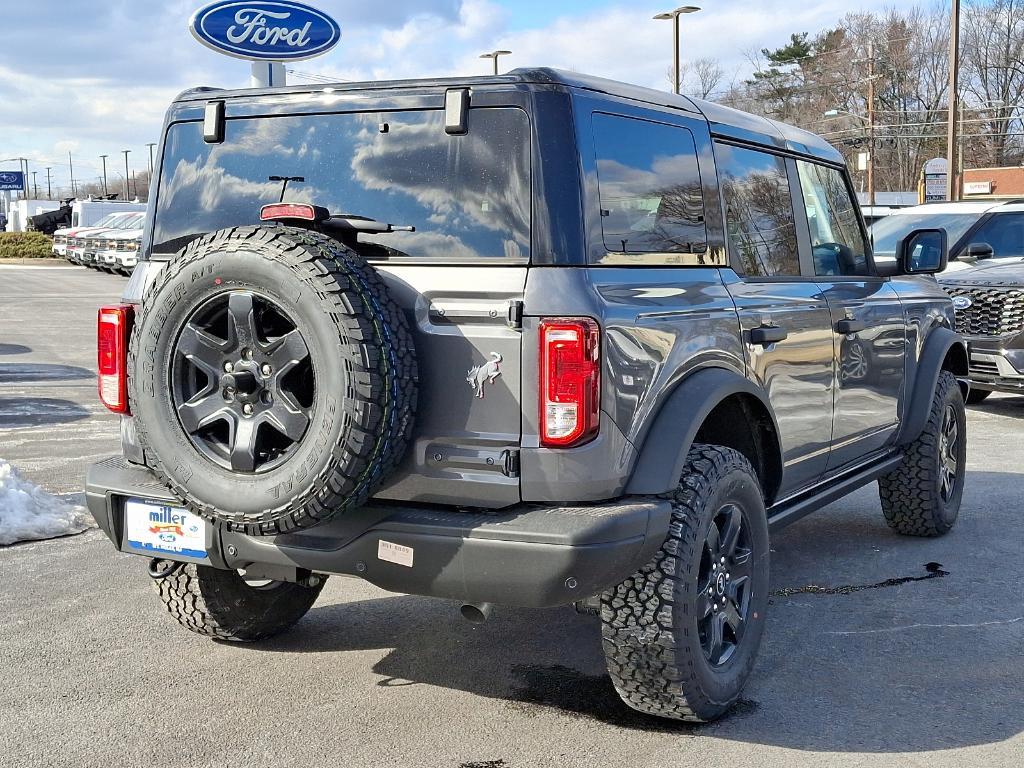
[[[695,444],[668,495],[654,559],[601,596],[608,673],[623,700],[708,722],[739,697],[764,632],[768,523],[758,478],[736,451]]]

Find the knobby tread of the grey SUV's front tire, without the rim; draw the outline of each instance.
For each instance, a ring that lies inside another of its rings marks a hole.
[[[882,514],[897,534],[937,537],[952,527],[952,523],[942,517],[942,499],[936,478],[939,430],[951,390],[955,397],[961,397],[955,377],[948,371],[941,371],[924,431],[906,446],[899,467],[879,478]],[[961,439],[967,439],[967,435],[962,435]]]

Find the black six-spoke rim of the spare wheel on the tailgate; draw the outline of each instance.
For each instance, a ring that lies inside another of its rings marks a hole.
[[[233,472],[265,472],[305,436],[315,372],[288,313],[251,290],[219,293],[191,312],[170,368],[172,404],[191,444]]]

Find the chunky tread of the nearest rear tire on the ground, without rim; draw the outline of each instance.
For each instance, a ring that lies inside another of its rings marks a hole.
[[[601,595],[602,645],[608,674],[620,696],[634,710],[703,723],[726,712],[739,696],[737,692],[727,701],[705,698],[692,669],[703,659],[694,658],[673,635],[675,582],[677,574],[685,571],[685,563],[694,562],[694,558],[699,562],[703,505],[720,478],[737,469],[757,484],[754,468],[739,452],[694,444],[679,486],[662,497],[672,502],[669,536],[662,549],[637,573]],[[689,592],[691,587],[684,589]]]

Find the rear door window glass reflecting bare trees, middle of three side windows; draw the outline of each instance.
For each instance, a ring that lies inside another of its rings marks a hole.
[[[717,144],[729,251],[743,274],[797,276],[800,252],[785,160],[756,150]]]

